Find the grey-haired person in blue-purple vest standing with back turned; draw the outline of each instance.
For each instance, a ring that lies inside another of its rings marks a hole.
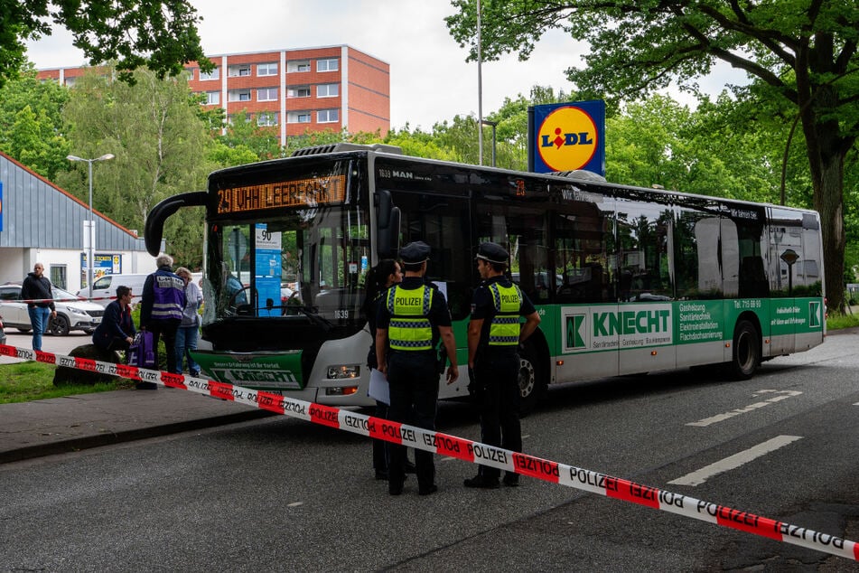
[[[140,330],[152,333],[156,349],[163,336],[167,354],[167,371],[176,371],[176,330],[182,323],[185,307],[185,282],[173,272],[173,257],[160,254],[155,259],[158,270],[146,277],[143,296],[140,299]],[[138,388],[157,388],[154,382],[138,382]]]

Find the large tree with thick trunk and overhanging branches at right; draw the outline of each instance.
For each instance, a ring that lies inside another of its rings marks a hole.
[[[453,0],[453,38],[474,45],[476,0]],[[584,67],[567,70],[576,86],[613,99],[637,99],[672,81],[696,90],[717,60],[755,80],[761,107],[783,102],[805,138],[814,205],[823,229],[826,290],[844,308],[844,168],[859,135],[859,10],[839,0],[492,0],[482,14],[482,57],[517,52],[528,59],[540,36],[561,28],[590,43]],[[789,121],[788,121],[789,123]]]

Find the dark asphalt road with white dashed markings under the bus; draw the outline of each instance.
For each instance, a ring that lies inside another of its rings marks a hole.
[[[523,420],[525,450],[859,540],[856,348],[831,336],[742,382],[710,369],[553,389]],[[438,425],[479,439],[465,405]],[[859,570],[533,479],[466,490],[472,465],[436,468],[439,493],[410,478],[390,497],[366,438],[291,418],[8,464],[0,570]]]

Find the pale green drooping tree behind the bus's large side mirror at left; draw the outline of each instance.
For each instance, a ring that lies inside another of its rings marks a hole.
[[[98,193],[93,206],[128,229],[142,230],[157,202],[177,193],[205,189],[216,167],[206,160],[212,140],[199,116],[197,99],[180,78],[159,80],[135,71],[135,83],[88,73],[70,89],[64,117],[71,126],[71,152],[81,157],[111,153],[93,167]],[[58,183],[86,197],[87,165],[74,164]],[[165,237],[173,258],[189,268],[202,261],[202,209],[173,218]]]

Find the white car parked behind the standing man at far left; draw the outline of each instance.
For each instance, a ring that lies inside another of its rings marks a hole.
[[[51,287],[57,317],[48,324],[47,332],[65,336],[73,330],[92,333],[101,322],[105,309],[101,305],[81,300],[79,296],[57,286]],[[33,330],[26,303],[21,302],[21,283],[0,285],[0,312],[3,313],[6,327],[17,328],[22,333]]]

